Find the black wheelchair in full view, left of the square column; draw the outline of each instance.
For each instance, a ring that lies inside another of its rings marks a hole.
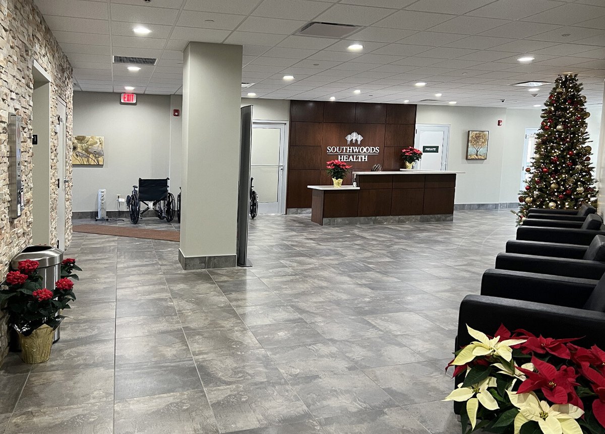
[[[174,195],[168,191],[168,180],[143,180],[139,178],[139,186],[132,186],[131,195],[126,196],[126,206],[130,213],[130,221],[134,224],[149,210],[154,210],[159,219],[171,222],[176,211]],[[141,202],[146,208],[141,211]],[[148,202],[152,202],[151,207]]]

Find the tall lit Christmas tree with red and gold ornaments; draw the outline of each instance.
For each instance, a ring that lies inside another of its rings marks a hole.
[[[526,172],[525,190],[520,192],[517,224],[532,207],[577,209],[597,196],[594,167],[587,146],[586,97],[581,95],[578,76],[559,76],[542,110],[540,131],[536,134],[535,154]]]

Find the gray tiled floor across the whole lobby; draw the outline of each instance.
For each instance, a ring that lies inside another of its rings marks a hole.
[[[253,268],[185,272],[177,243],[74,233],[77,302],[50,361],[0,369],[0,432],[457,433],[457,308],[513,235],[261,215]]]

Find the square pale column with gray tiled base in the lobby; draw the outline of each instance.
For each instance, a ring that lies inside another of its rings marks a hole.
[[[235,267],[242,47],[189,42],[184,53],[178,260]]]

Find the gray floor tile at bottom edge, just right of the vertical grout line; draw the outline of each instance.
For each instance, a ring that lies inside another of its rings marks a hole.
[[[203,390],[116,401],[116,433],[211,434],[218,427]]]

